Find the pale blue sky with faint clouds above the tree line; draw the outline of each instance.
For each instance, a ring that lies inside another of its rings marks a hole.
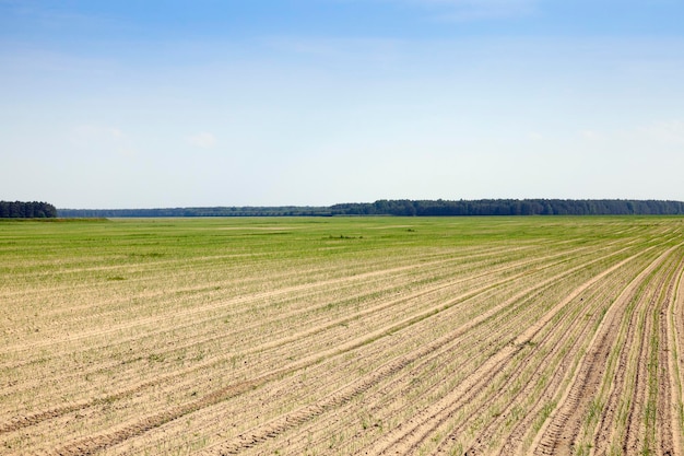
[[[0,200],[684,200],[682,0],[0,0]]]

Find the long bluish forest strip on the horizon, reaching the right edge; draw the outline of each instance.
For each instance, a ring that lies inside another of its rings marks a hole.
[[[682,215],[684,202],[612,199],[378,200],[329,207],[211,207],[172,209],[59,209],[63,218],[333,217],[333,215]]]

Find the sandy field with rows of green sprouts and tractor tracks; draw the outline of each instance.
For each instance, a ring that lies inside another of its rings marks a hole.
[[[684,219],[0,222],[1,455],[684,455]]]

